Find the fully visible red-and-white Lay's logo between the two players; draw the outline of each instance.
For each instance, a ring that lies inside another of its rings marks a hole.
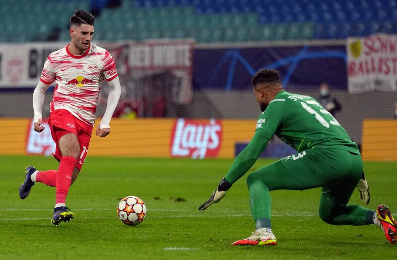
[[[215,157],[222,141],[220,121],[210,119],[208,123],[178,119],[172,130],[171,156],[194,159]]]

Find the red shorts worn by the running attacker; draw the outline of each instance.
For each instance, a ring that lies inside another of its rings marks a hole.
[[[52,111],[48,119],[48,125],[50,126],[53,140],[57,144],[53,155],[58,161],[61,161],[63,157],[58,147],[58,142],[61,137],[68,133],[74,133],[77,136],[78,143],[80,144],[80,156],[77,158],[76,168],[80,171],[88,152],[92,126],[85,124],[66,109]]]

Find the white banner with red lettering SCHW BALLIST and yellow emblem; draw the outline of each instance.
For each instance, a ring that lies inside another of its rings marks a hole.
[[[397,91],[397,35],[348,38],[349,93]]]

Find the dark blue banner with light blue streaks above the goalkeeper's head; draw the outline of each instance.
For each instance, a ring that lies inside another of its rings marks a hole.
[[[345,46],[196,49],[195,89],[251,89],[251,77],[260,68],[280,71],[287,90],[318,88],[327,82],[347,89]]]

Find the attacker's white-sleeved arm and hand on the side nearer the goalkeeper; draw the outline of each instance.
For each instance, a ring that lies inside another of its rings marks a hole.
[[[110,92],[108,96],[108,102],[106,105],[105,114],[102,117],[101,123],[99,123],[96,129],[96,135],[105,137],[110,133],[110,120],[112,119],[113,113],[119,103],[121,86],[119,76],[116,76],[111,81],[108,81]]]

